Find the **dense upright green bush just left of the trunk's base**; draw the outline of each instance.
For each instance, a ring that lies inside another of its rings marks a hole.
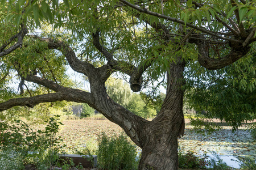
[[[98,164],[102,169],[138,169],[136,147],[123,134],[108,138],[102,134],[98,138]]]

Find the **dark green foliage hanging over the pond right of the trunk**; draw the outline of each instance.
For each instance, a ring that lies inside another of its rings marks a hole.
[[[255,52],[218,71],[196,69],[187,71],[189,104],[204,111],[206,118],[220,118],[233,126],[252,121],[256,108]],[[195,63],[197,64],[197,63]],[[195,73],[197,71],[197,73]],[[191,74],[197,74],[192,78]],[[229,114],[227,114],[229,113]]]

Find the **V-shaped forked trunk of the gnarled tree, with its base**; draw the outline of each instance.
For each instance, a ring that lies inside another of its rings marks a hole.
[[[183,71],[185,62],[171,63],[167,74],[167,94],[158,116],[152,121],[130,113],[114,103],[106,94],[105,88],[91,86],[97,100],[97,108],[110,121],[121,126],[126,134],[142,148],[139,169],[177,169],[177,138],[184,133]],[[96,76],[97,77],[97,76]],[[93,80],[92,82],[99,82]],[[93,83],[92,83],[93,84]]]

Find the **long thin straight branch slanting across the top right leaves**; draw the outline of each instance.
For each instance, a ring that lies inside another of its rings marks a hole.
[[[130,6],[131,8],[134,8],[135,10],[139,11],[139,12],[143,12],[145,14],[148,14],[148,15],[152,15],[152,16],[156,16],[158,18],[163,18],[163,19],[166,19],[166,20],[171,20],[172,22],[176,22],[176,23],[180,23],[180,24],[183,24],[183,25],[187,25],[188,27],[191,27],[191,28],[194,28],[198,31],[201,31],[201,32],[204,32],[204,33],[207,33],[208,35],[212,35],[214,37],[218,37],[219,39],[222,39],[222,40],[228,40],[230,42],[241,42],[240,40],[234,40],[234,39],[229,39],[229,38],[226,38],[226,37],[222,37],[220,35],[217,35],[216,33],[214,32],[211,32],[211,31],[208,31],[207,29],[204,29],[204,28],[200,28],[200,27],[196,27],[195,25],[193,24],[190,24],[190,23],[186,23],[183,21],[183,20],[179,20],[179,19],[176,19],[176,18],[172,18],[170,16],[166,16],[166,15],[162,15],[162,14],[159,14],[157,12],[152,12],[152,11],[148,11],[146,9],[143,9],[141,7],[138,7],[138,6],[135,6],[133,4],[131,4],[130,2],[127,2],[125,0],[119,0],[123,3],[125,3],[127,6]]]

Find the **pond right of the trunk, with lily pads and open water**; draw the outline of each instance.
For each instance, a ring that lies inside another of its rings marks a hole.
[[[256,159],[256,140],[246,129],[242,126],[232,133],[230,126],[222,126],[221,130],[211,134],[197,134],[193,126],[186,126],[184,137],[178,140],[179,148],[184,152],[193,151],[197,155],[205,153],[209,159],[217,155],[230,167],[239,168],[237,156],[252,156]]]

